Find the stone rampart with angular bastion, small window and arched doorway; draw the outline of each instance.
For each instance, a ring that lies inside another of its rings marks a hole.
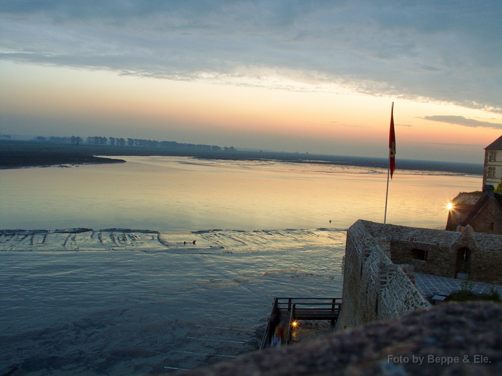
[[[430,307],[414,273],[502,284],[502,236],[358,220],[347,230],[337,329]]]

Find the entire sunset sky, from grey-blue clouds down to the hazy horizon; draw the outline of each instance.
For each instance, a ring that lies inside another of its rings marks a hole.
[[[0,1],[0,134],[483,163],[499,1]]]

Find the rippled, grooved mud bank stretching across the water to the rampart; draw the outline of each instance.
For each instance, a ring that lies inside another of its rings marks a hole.
[[[0,251],[135,250],[174,253],[248,253],[277,250],[280,247],[339,246],[344,242],[344,236],[341,236],[337,229],[192,232],[124,229],[0,231]]]

